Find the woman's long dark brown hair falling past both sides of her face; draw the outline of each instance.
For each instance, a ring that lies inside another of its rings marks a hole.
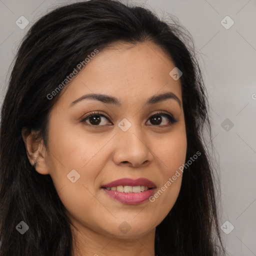
[[[58,99],[58,95],[52,99],[47,95],[87,54],[116,41],[151,41],[171,56],[183,73],[186,161],[201,152],[183,172],[178,198],[156,227],[155,253],[224,254],[213,167],[202,136],[204,128],[210,131],[208,103],[192,44],[186,43],[189,38],[176,22],[162,21],[146,8],[115,0],[58,7],[32,25],[18,49],[1,108],[1,256],[71,256],[70,221],[50,175],[39,174],[29,163],[21,129],[37,130],[46,144],[49,111]],[[29,226],[23,235],[15,228],[21,220]]]

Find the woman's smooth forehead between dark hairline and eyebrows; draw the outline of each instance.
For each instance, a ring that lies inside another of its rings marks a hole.
[[[60,100],[70,103],[82,94],[104,93],[135,104],[171,91],[181,101],[180,82],[169,75],[174,67],[170,56],[152,42],[112,43],[89,59],[62,89]]]

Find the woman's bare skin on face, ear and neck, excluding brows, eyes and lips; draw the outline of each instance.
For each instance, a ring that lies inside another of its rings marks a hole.
[[[182,173],[154,202],[137,205],[116,201],[100,187],[119,178],[144,177],[157,191],[185,162],[181,86],[169,75],[174,67],[152,42],[111,44],[61,90],[50,111],[47,146],[42,140],[37,143],[33,131],[22,130],[31,164],[36,160],[36,171],[51,176],[77,228],[71,226],[74,256],[154,255],[155,227],[176,201]],[[70,106],[92,92],[115,96],[121,105],[84,99]],[[174,93],[181,106],[170,98],[145,105],[148,97],[162,92]],[[101,117],[94,126],[88,119],[81,122],[97,110],[109,120]],[[150,116],[159,110],[177,122],[171,124],[160,115],[160,124],[153,125]],[[123,118],[131,123],[125,132],[117,125]],[[67,178],[72,169],[80,175],[74,183]],[[123,221],[130,227],[126,233],[118,228]]]

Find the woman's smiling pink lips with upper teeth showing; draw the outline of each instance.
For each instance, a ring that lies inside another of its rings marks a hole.
[[[155,184],[146,178],[122,178],[104,184],[101,188],[119,202],[139,204],[152,195]]]

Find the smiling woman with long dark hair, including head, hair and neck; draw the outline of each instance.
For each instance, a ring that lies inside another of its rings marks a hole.
[[[1,110],[1,256],[224,253],[182,34],[111,0],[30,28]]]

